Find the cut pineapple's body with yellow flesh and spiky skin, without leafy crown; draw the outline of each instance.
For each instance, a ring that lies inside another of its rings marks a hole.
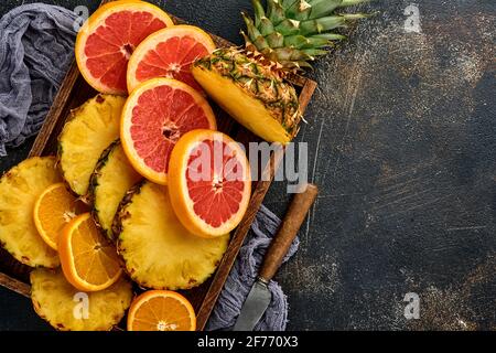
[[[294,87],[261,57],[237,47],[198,60],[193,76],[238,122],[270,142],[288,143],[301,120]]]

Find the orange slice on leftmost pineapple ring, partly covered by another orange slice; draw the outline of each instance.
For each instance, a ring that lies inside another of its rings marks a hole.
[[[76,217],[77,199],[64,183],[45,189],[34,204],[34,225],[43,240],[57,249],[58,235],[64,226]]]

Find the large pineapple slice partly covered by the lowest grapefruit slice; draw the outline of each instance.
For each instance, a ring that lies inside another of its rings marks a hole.
[[[168,189],[148,181],[125,197],[114,231],[132,280],[154,289],[200,286],[214,272],[229,242],[229,235],[205,239],[188,233],[172,210]]]

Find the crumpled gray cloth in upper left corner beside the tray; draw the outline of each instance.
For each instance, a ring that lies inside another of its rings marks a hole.
[[[74,57],[76,19],[45,3],[0,19],[0,157],[40,131]]]

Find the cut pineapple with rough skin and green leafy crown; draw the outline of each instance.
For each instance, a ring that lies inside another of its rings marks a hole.
[[[219,49],[198,60],[193,75],[206,93],[254,133],[270,142],[288,143],[301,120],[294,87],[284,81],[290,71],[310,67],[326,54],[333,33],[362,13],[335,10],[367,0],[268,0],[267,13],[252,0],[255,21],[242,14],[246,49]]]

